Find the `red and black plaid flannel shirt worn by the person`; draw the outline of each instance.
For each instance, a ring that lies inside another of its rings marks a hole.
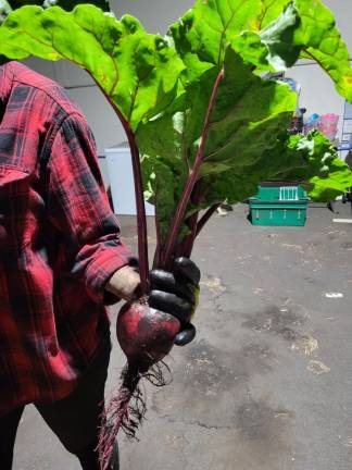
[[[63,88],[0,66],[0,413],[70,394],[109,334],[118,238],[93,136]]]

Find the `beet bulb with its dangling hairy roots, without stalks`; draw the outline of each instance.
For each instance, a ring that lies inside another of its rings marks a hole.
[[[163,386],[163,358],[172,349],[180,331],[180,322],[168,313],[149,307],[147,297],[125,304],[118,312],[116,333],[127,357],[122,372],[122,384],[102,415],[98,452],[101,470],[111,468],[110,459],[120,429],[127,437],[135,437],[143,421],[147,406],[141,379]],[[166,370],[169,369],[164,364]]]

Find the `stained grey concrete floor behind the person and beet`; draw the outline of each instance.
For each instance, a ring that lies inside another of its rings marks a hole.
[[[352,225],[332,223],[351,215],[337,209],[311,208],[305,228],[254,227],[243,206],[214,217],[193,253],[197,339],[174,348],[172,385],[148,388],[122,470],[351,470]],[[123,363],[115,345],[109,389]],[[45,469],[79,466],[27,407],[14,470]]]

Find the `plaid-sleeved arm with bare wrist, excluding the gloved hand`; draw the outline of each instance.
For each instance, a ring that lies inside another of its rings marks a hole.
[[[50,150],[48,217],[62,235],[71,273],[97,301],[129,300],[139,284],[137,258],[120,239],[93,136],[79,113],[60,125]]]

